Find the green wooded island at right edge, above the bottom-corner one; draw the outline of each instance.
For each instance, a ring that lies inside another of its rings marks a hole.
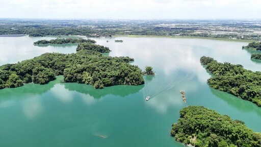
[[[261,72],[246,70],[242,65],[228,62],[219,63],[210,57],[201,57],[200,63],[206,65],[214,77],[207,83],[215,89],[225,91],[243,100],[255,103],[261,107]]]

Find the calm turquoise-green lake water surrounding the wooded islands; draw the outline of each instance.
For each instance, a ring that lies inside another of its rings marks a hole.
[[[0,37],[0,64],[17,63],[46,52],[75,53],[75,44],[34,46],[54,37]],[[129,56],[142,69],[153,66],[155,76],[145,85],[94,89],[77,83],[27,84],[0,90],[0,146],[184,146],[170,137],[179,110],[201,105],[233,119],[243,120],[261,132],[261,108],[210,88],[210,74],[201,56],[219,62],[261,70],[250,60],[247,43],[176,38],[93,38],[110,47],[110,56]],[[109,42],[107,42],[107,40]],[[180,90],[185,90],[187,104]],[[150,95],[151,100],[144,98]]]

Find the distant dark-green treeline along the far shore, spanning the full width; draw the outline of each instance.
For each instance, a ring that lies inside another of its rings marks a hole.
[[[110,26],[110,25],[109,25]],[[84,35],[90,37],[112,37],[112,35],[148,35],[148,36],[187,36],[187,37],[212,37],[212,38],[226,38],[226,39],[246,39],[246,40],[260,40],[258,35],[241,35],[235,34],[208,34],[195,33],[197,28],[165,28],[154,27],[151,24],[139,26],[134,24],[129,27],[121,25],[117,27],[77,27],[77,26],[5,26],[0,28],[0,34],[26,34],[32,37],[42,37],[47,35]],[[15,29],[14,29],[14,28]]]

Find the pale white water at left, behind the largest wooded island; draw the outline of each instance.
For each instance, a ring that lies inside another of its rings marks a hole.
[[[62,36],[64,37],[64,36]],[[42,39],[50,40],[56,37],[0,37],[0,65],[17,63],[18,61],[32,59],[44,53],[75,53],[76,45],[48,45],[35,46],[34,42]]]

